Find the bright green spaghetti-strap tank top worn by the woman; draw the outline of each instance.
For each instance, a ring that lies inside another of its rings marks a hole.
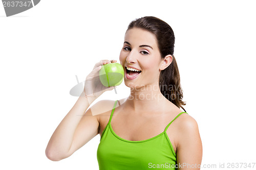
[[[146,140],[133,141],[119,137],[109,123],[100,137],[97,150],[99,170],[178,169],[176,153],[166,130],[182,113],[178,114],[159,135]],[[175,167],[176,166],[176,167]]]

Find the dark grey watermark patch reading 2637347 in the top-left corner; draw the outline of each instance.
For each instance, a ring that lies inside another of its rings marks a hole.
[[[27,11],[34,6],[36,6],[40,0],[18,0],[18,1],[8,1],[8,0],[2,0],[3,7],[5,9],[6,16],[12,16],[16,15],[18,13],[22,13],[24,11]]]

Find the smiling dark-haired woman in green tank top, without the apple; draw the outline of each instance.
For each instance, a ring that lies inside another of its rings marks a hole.
[[[116,61],[96,63],[83,93],[53,133],[47,157],[67,158],[100,134],[99,169],[200,169],[202,142],[196,120],[180,110],[185,111],[185,104],[174,42],[172,28],[161,19],[132,21],[119,57],[131,94],[88,109],[114,88],[102,86],[97,75],[102,64]]]

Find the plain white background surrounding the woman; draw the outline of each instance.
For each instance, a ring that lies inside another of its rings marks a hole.
[[[99,135],[58,162],[47,159],[45,149],[78,99],[69,94],[75,75],[81,82],[99,60],[119,62],[126,28],[142,16],[156,16],[174,30],[184,108],[200,129],[202,164],[217,165],[204,169],[256,162],[253,4],[42,0],[12,17],[0,7],[0,169],[98,169]],[[117,92],[95,102],[130,91],[122,83]]]

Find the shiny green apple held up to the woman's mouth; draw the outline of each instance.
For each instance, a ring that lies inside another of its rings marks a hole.
[[[101,66],[99,70],[100,82],[105,87],[118,86],[122,83],[124,70],[119,63],[109,63]]]

